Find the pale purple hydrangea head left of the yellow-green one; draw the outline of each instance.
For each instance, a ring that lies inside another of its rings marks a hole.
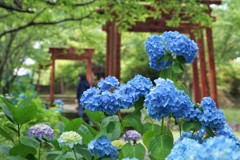
[[[50,126],[40,123],[40,124],[31,126],[28,130],[28,135],[30,137],[36,137],[39,140],[42,140],[43,138],[50,140],[50,139],[53,139],[54,130]]]

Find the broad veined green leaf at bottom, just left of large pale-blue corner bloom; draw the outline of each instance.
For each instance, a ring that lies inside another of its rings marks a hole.
[[[157,160],[164,160],[173,148],[173,138],[169,135],[155,136],[150,139],[150,155]]]

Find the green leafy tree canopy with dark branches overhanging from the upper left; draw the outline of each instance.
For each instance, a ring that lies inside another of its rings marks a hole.
[[[181,18],[186,17],[193,23],[209,25],[210,17],[204,12],[207,7],[199,5],[200,2],[198,0],[162,0],[160,2],[155,0],[82,0],[78,2],[72,0],[0,0],[2,22],[0,23],[0,88],[6,88],[6,92],[9,91],[9,83],[14,80],[14,70],[20,68],[26,57],[35,57],[34,51],[36,50],[33,45],[36,42],[48,43],[44,51],[50,45],[62,45],[61,41],[66,41],[70,37],[65,35],[64,39],[59,39],[57,36],[60,34],[57,32],[68,30],[67,33],[71,33],[74,28],[83,25],[83,20],[86,20],[84,25],[101,28],[106,21],[115,19],[119,29],[124,31],[136,21],[144,21],[146,17],[158,18],[163,13],[171,12],[173,16],[167,22],[168,25],[177,26]],[[58,43],[53,43],[54,41]],[[42,59],[41,56],[36,57],[39,60]]]

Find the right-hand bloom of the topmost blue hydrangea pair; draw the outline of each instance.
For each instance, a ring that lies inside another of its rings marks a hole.
[[[164,32],[166,49],[177,56],[183,56],[187,63],[192,63],[198,53],[197,44],[179,32]]]

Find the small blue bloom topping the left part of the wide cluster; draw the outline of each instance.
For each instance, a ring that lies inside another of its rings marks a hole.
[[[119,85],[118,79],[113,76],[108,76],[97,84],[101,91],[107,91],[110,89],[117,88],[118,85]]]

